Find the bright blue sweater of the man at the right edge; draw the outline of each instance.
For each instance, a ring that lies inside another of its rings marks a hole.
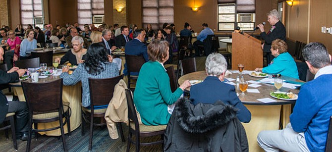
[[[324,152],[332,116],[332,74],[325,74],[301,87],[290,123],[296,132],[304,132],[311,152]]]

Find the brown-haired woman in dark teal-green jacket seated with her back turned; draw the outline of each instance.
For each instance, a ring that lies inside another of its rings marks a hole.
[[[138,75],[134,103],[145,125],[166,125],[170,118],[167,105],[173,104],[190,87],[186,80],[174,93],[164,63],[169,57],[168,43],[155,40],[148,46],[150,61],[143,64]]]

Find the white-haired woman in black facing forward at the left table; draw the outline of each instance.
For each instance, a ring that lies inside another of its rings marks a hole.
[[[85,54],[87,50],[83,48],[84,40],[80,36],[75,36],[71,40],[73,49],[67,51],[64,56],[61,57],[61,60],[57,58],[60,64],[64,64],[65,62],[69,61],[71,65],[78,65],[79,63],[84,62]]]

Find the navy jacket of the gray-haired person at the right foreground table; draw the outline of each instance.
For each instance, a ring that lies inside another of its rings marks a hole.
[[[221,82],[215,76],[208,76],[203,82],[191,86],[190,100],[195,105],[198,103],[214,104],[216,101],[223,101],[238,109],[237,118],[241,122],[251,120],[251,113],[237,97],[234,86]]]

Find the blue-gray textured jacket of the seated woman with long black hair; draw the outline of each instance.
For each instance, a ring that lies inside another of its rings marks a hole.
[[[60,78],[63,79],[63,85],[65,86],[74,85],[79,81],[82,82],[82,105],[84,107],[88,107],[90,106],[89,78],[106,79],[119,75],[119,70],[116,63],[103,64],[103,67],[105,70],[102,71],[99,75],[92,75],[88,73],[83,64],[78,64],[78,67],[71,75],[69,75],[67,72],[64,72],[61,73]]]

